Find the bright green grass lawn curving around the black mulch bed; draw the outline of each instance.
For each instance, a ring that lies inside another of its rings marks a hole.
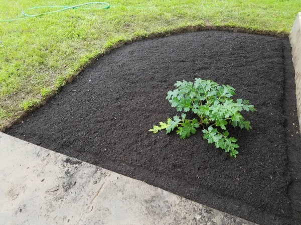
[[[84,2],[87,0],[0,0],[0,19],[22,17],[21,11],[33,6]],[[70,9],[0,22],[0,130],[118,41],[200,25],[289,33],[301,10],[301,0],[107,2],[109,9]]]

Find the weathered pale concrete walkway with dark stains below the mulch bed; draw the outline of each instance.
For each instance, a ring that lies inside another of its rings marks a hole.
[[[0,224],[254,224],[0,132]]]

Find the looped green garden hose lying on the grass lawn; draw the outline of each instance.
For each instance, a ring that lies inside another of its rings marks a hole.
[[[38,14],[28,14],[24,11],[22,11],[22,14],[25,15],[25,17],[20,17],[20,18],[13,18],[13,19],[3,19],[0,20],[0,22],[5,22],[5,21],[14,21],[14,20],[19,20],[19,19],[25,19],[25,18],[29,18],[29,17],[35,17],[35,16],[39,16],[39,15],[45,15],[45,14],[50,14],[50,13],[55,13],[55,12],[59,12],[59,11],[64,11],[64,10],[68,10],[71,8],[84,8],[84,9],[91,9],[89,7],[82,7],[84,5],[88,5],[88,4],[101,4],[103,6],[101,7],[93,7],[93,9],[105,9],[105,8],[109,8],[110,4],[107,2],[100,2],[100,1],[95,1],[95,2],[86,2],[86,3],[82,3],[82,4],[77,4],[77,5],[72,5],[72,6],[60,6],[60,5],[48,5],[48,6],[35,6],[35,7],[31,7],[28,8],[26,10],[30,10],[30,9],[37,9],[37,8],[61,8],[58,10],[54,10],[54,11],[48,11],[48,12],[42,12],[42,13],[38,13]]]

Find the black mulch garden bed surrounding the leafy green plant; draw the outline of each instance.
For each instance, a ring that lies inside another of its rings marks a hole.
[[[145,39],[100,57],[7,133],[260,224],[297,224],[293,76],[288,38],[207,30]],[[147,131],[177,114],[165,99],[173,84],[195,77],[255,105],[244,113],[253,129],[231,129],[236,159],[201,131],[185,140]]]

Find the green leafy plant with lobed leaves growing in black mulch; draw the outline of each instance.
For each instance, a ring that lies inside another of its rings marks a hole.
[[[177,89],[168,91],[166,99],[178,111],[192,111],[197,118],[188,119],[186,113],[182,113],[181,116],[175,115],[168,118],[167,122],[154,125],[149,131],[157,133],[166,129],[166,133],[169,133],[176,128],[177,134],[183,139],[194,134],[196,128],[202,127],[203,137],[208,143],[214,143],[215,147],[220,147],[229,152],[230,156],[236,157],[239,145],[236,138],[229,136],[226,125],[251,129],[250,122],[245,120],[240,111],[255,111],[254,105],[249,104],[248,100],[233,100],[233,87],[219,85],[212,80],[183,80],[177,81],[175,86]]]

